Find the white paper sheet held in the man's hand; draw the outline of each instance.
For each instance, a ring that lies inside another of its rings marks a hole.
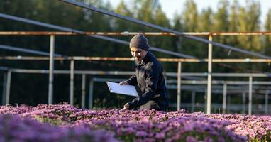
[[[126,94],[129,96],[138,97],[138,92],[136,92],[136,87],[132,85],[120,85],[116,82],[106,82],[111,93],[116,94]]]

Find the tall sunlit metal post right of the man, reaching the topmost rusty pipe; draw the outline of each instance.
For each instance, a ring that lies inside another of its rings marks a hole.
[[[209,35],[209,41],[213,41],[213,35]],[[207,114],[211,114],[211,73],[212,73],[213,45],[208,46],[208,84],[207,84]]]

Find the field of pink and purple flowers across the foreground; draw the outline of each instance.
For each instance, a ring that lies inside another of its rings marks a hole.
[[[0,141],[271,141],[271,116],[0,107]]]

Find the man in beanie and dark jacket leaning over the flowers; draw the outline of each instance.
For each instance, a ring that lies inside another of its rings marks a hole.
[[[123,110],[140,107],[140,109],[156,109],[167,111],[169,97],[165,86],[163,69],[155,56],[148,51],[148,39],[142,33],[133,36],[130,50],[136,60],[136,75],[119,84],[138,85],[139,97],[124,105]]]

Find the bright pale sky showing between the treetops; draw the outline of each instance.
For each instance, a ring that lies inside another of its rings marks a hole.
[[[121,0],[108,0],[111,2],[112,6],[116,8],[118,6],[119,2]],[[126,4],[129,4],[131,0],[124,0]],[[162,6],[162,11],[164,11],[167,15],[167,18],[172,19],[175,15],[175,13],[181,13],[184,2],[186,0],[159,0],[161,6]],[[230,4],[234,0],[228,0]],[[261,7],[261,17],[260,21],[261,23],[265,23],[267,11],[271,9],[271,1],[270,0],[238,0],[240,6],[246,6],[249,1],[260,1],[260,7]],[[217,11],[217,6],[219,0],[194,0],[194,2],[197,4],[197,9],[200,12],[202,9],[206,9],[208,6],[211,7],[213,11]],[[263,25],[262,25],[263,26]]]

